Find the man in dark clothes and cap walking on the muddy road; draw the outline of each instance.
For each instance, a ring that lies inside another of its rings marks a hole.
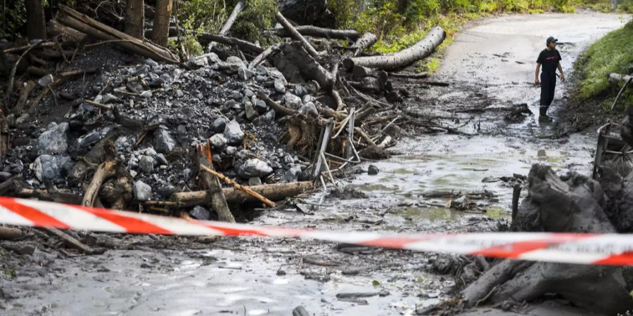
[[[561,54],[556,51],[556,41],[554,37],[548,37],[546,48],[539,53],[537,58],[537,68],[534,74],[534,84],[541,85],[541,100],[539,103],[539,120],[548,120],[547,109],[554,100],[554,90],[556,89],[556,69],[561,73],[561,81],[565,81],[563,67],[561,67]],[[541,72],[541,80],[539,81],[539,69],[543,67]]]

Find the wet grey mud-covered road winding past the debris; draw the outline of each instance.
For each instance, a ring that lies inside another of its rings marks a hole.
[[[454,133],[403,138],[392,148],[399,154],[366,162],[339,181],[340,187],[366,197],[316,192],[303,199],[303,212],[260,211],[253,224],[380,232],[503,228],[512,180],[501,177],[527,175],[535,162],[551,164],[558,172],[591,169],[594,133],[567,135],[556,121],[557,113],[565,111],[567,84],[558,86],[551,108],[554,122],[538,123],[539,92],[531,83],[544,39],[554,35],[560,40],[563,69],[570,74],[584,48],[626,19],[598,13],[513,15],[472,25],[459,34],[435,74],[451,86],[398,83],[414,96],[407,113],[433,113]],[[506,121],[521,103],[535,114]],[[378,175],[366,174],[369,164],[380,169]],[[449,199],[426,194],[484,190],[492,197],[473,200],[469,211],[448,208]],[[303,305],[310,315],[412,315],[448,298],[465,282],[450,274],[460,259],[437,254],[294,239],[95,238],[116,242],[120,250],[62,257],[35,249],[33,256],[15,259],[18,268],[5,271],[15,277],[0,284],[1,313],[291,315]],[[350,293],[372,295],[337,298]],[[561,315],[560,308],[556,305],[553,315]],[[573,308],[564,312],[582,314]]]

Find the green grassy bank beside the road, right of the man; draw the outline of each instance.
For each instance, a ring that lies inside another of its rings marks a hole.
[[[625,27],[610,32],[585,51],[576,63],[576,72],[580,79],[578,98],[586,100],[617,93],[618,86],[610,84],[607,75],[611,72],[628,73],[633,65],[633,21]],[[633,102],[633,89],[627,89],[625,99]],[[622,98],[622,97],[620,97]]]

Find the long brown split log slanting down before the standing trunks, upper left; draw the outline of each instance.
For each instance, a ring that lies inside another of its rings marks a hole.
[[[103,40],[117,40],[124,39],[126,41],[116,42],[115,45],[130,51],[137,53],[153,60],[179,63],[177,55],[174,55],[167,48],[156,46],[148,41],[136,39],[123,32],[117,31],[108,25],[104,25],[101,22],[97,22],[89,18],[87,15],[79,13],[68,6],[60,6],[60,10],[57,15],[57,20],[68,27],[77,29],[79,32],[89,34],[91,37],[96,37]]]

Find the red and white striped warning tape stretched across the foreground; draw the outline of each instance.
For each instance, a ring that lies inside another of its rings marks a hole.
[[[138,234],[298,237],[530,261],[633,265],[633,234],[471,232],[383,235],[377,232],[330,232],[186,220],[11,197],[0,197],[0,223]]]

